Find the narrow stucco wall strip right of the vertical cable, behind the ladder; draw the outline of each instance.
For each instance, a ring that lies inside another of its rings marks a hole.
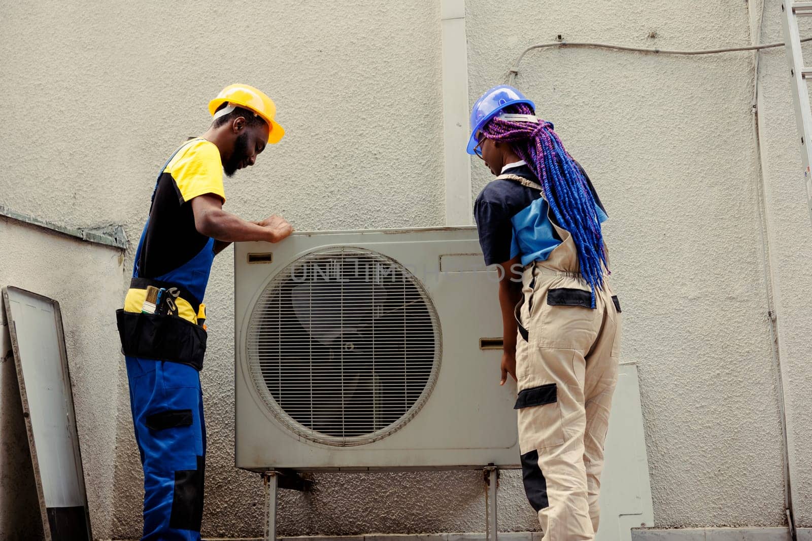
[[[781,2],[764,6],[762,42],[784,41]],[[812,36],[812,20],[800,19],[801,34]],[[812,45],[803,47],[805,65]],[[780,362],[786,381],[790,464],[798,526],[812,526],[812,225],[806,208],[801,167],[800,135],[795,127],[789,67],[784,49],[762,54],[759,67],[759,124],[764,181],[767,187],[767,223],[775,288]]]

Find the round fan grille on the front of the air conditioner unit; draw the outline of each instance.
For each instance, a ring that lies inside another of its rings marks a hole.
[[[248,322],[248,365],[279,421],[309,440],[356,445],[412,418],[438,374],[440,329],[421,284],[355,247],[284,268]]]

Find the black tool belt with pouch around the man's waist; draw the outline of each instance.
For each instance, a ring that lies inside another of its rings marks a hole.
[[[147,286],[166,290],[175,288],[178,296],[191,304],[196,313],[200,307],[197,298],[182,287],[146,278],[133,278],[130,284],[131,289],[139,290],[145,290]],[[206,332],[200,325],[171,314],[145,314],[123,309],[116,310],[115,317],[123,354],[188,364],[197,371],[203,367]]]

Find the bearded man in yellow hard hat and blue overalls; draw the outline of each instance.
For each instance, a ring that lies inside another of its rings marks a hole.
[[[145,540],[201,539],[205,423],[198,372],[206,346],[201,303],[214,255],[229,243],[278,243],[283,218],[242,220],[222,210],[222,173],[254,165],[284,130],[263,92],[232,84],[209,102],[209,130],[158,174],[132,282],[117,311],[132,422],[144,467]]]

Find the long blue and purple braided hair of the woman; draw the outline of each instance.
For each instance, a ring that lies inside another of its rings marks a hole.
[[[505,113],[535,114],[527,104],[509,105]],[[592,307],[595,290],[603,287],[604,268],[608,271],[606,245],[595,200],[581,169],[564,149],[551,122],[515,122],[495,117],[483,128],[488,139],[508,143],[538,178],[544,199],[555,220],[572,234],[578,252],[581,275],[590,284]]]

